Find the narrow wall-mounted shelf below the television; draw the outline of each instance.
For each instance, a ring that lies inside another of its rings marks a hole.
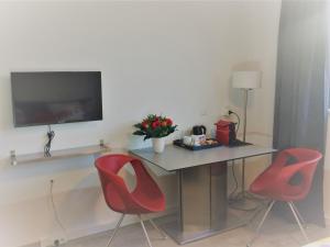
[[[99,155],[108,151],[110,151],[110,147],[107,145],[92,145],[92,146],[54,150],[51,151],[51,156],[45,156],[44,153],[15,155],[14,151],[11,151],[10,164],[12,166],[16,166],[23,164],[31,164],[31,162],[43,162],[43,161],[50,161],[56,159],[67,159],[67,158],[74,158],[79,156]]]

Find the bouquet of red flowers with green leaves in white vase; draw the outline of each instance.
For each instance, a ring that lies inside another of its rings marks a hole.
[[[144,135],[144,139],[161,138],[173,133],[177,125],[166,116],[150,114],[141,123],[134,124],[139,128],[133,135]]]

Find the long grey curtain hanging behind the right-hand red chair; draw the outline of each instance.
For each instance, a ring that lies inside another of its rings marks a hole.
[[[328,117],[327,2],[282,3],[276,94],[274,147],[309,147],[324,154]],[[307,222],[324,226],[323,160],[318,165],[306,200],[297,204]],[[277,206],[287,216],[288,210]]]

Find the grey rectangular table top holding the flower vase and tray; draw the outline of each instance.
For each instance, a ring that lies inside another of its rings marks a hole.
[[[154,164],[167,171],[175,171],[184,168],[201,166],[212,162],[228,161],[240,158],[266,155],[276,151],[270,147],[255,145],[227,147],[220,146],[204,150],[187,150],[174,145],[167,145],[164,153],[156,154],[152,148],[130,150],[132,155]]]

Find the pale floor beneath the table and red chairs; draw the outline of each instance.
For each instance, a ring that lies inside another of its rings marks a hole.
[[[178,246],[170,238],[161,239],[158,233],[146,223],[146,227],[154,247]],[[195,242],[187,247],[244,247],[253,236],[255,223],[240,227],[210,238]],[[307,234],[310,240],[317,240],[330,236],[330,228],[321,228],[316,225],[308,225]],[[106,247],[110,233],[102,233],[92,236],[72,240],[63,247]],[[299,247],[306,243],[297,228],[284,220],[272,216],[266,221],[261,236],[253,244],[254,247]],[[142,228],[139,224],[120,228],[114,238],[112,247],[147,247]]]

